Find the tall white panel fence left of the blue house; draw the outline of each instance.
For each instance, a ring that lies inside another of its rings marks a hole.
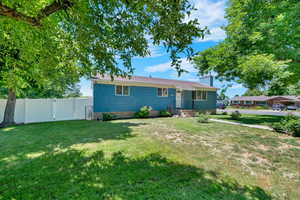
[[[17,99],[16,123],[91,119],[92,98]],[[6,100],[0,99],[0,122]]]

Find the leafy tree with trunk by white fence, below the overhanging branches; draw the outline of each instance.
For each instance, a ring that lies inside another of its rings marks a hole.
[[[51,56],[57,59],[53,63],[48,62],[49,54],[39,53],[36,60],[29,61],[22,58],[19,49],[2,46],[0,85],[1,93],[7,92],[7,104],[0,126],[14,124],[17,96],[32,97],[36,93],[39,97],[59,97],[59,93],[62,96],[68,87],[79,81],[80,68],[71,60],[65,60],[62,52],[52,52]]]

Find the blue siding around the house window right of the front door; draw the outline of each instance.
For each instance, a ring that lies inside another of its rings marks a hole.
[[[213,110],[216,109],[217,93],[207,92],[206,101],[195,101],[193,108],[192,91],[183,91],[183,109]]]

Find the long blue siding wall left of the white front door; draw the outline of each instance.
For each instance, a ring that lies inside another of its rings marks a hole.
[[[175,109],[176,90],[168,89],[168,97],[158,97],[157,88],[130,86],[129,96],[115,96],[115,86],[94,85],[94,112],[136,112],[142,106],[151,106],[159,111],[172,107]]]

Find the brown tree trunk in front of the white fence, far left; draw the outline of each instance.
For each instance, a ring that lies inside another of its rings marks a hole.
[[[15,107],[16,107],[16,93],[14,90],[8,90],[8,98],[4,111],[4,118],[0,124],[0,128],[15,124]]]

